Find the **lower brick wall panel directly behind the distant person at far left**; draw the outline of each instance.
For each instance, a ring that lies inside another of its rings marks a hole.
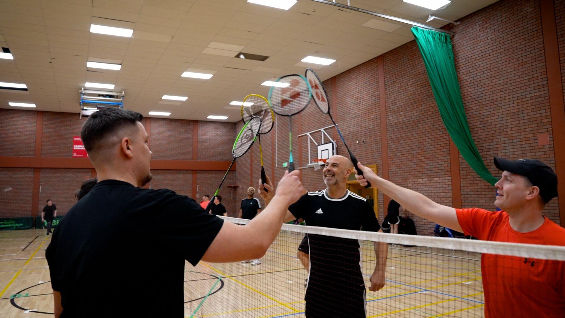
[[[57,206],[58,216],[67,213],[76,203],[75,191],[88,178],[90,169],[41,169],[38,215],[47,199],[53,200]]]

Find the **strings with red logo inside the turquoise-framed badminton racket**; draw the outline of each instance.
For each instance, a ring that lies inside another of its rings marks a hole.
[[[312,98],[310,85],[301,75],[285,75],[277,79],[279,83],[289,84],[287,87],[271,87],[269,102],[275,113],[290,116],[299,113],[308,106]]]

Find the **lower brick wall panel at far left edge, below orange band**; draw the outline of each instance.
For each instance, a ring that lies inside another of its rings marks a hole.
[[[0,168],[0,218],[31,216],[32,186],[32,168]]]

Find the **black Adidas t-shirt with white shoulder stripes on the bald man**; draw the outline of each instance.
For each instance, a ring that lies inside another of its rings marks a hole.
[[[308,192],[290,205],[290,212],[306,225],[334,229],[380,230],[373,208],[349,190],[340,199],[331,199],[325,190]],[[358,295],[365,289],[361,272],[359,241],[307,234],[310,247],[310,277],[305,300],[343,304],[344,295]]]

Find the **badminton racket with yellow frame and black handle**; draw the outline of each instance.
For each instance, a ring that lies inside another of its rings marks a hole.
[[[261,135],[267,134],[273,128],[273,123],[275,123],[275,114],[267,101],[267,98],[258,94],[249,94],[245,96],[244,101],[241,105],[241,119],[244,123],[248,122],[253,116],[259,116],[261,118],[261,128],[259,128],[259,135],[257,139],[259,141],[259,157],[261,159],[261,183],[267,183],[267,174],[265,173],[265,168],[263,166],[263,149],[261,148]],[[265,192],[268,192],[265,189]]]

